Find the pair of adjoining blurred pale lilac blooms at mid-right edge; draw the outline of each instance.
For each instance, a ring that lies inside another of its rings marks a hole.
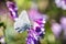
[[[52,31],[57,38],[59,38],[63,31],[63,38],[66,40],[66,16],[62,16],[59,22],[61,23],[57,23],[55,20],[52,21]]]

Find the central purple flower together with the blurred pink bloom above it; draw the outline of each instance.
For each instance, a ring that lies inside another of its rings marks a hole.
[[[29,16],[33,26],[28,31],[26,44],[41,44],[40,40],[44,37],[47,16],[35,9],[29,11]]]

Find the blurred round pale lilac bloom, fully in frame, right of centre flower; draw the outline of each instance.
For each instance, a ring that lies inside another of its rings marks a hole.
[[[59,37],[59,34],[62,32],[62,26],[55,21],[52,21],[52,32],[56,37]]]

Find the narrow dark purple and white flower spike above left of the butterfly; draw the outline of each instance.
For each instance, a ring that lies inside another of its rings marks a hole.
[[[7,1],[7,7],[10,11],[10,14],[13,19],[16,19],[18,18],[18,7],[14,2],[11,2],[11,1]]]

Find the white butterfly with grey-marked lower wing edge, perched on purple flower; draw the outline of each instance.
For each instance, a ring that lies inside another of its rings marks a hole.
[[[26,31],[31,28],[31,21],[25,10],[21,12],[18,20],[14,22],[14,30],[19,33]]]

